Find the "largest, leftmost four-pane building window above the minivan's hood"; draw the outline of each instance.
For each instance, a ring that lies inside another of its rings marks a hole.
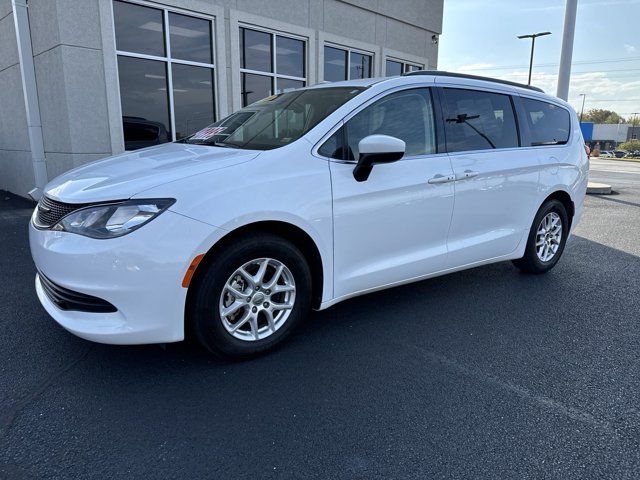
[[[215,121],[213,22],[114,0],[126,150],[179,140]]]

